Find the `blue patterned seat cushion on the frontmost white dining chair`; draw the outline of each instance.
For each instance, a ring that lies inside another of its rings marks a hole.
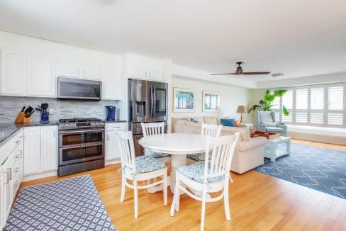
[[[210,166],[208,166],[208,168],[210,169]],[[188,166],[182,166],[182,167],[179,167],[178,171],[180,174],[183,174],[184,176],[186,176],[189,179],[192,179],[192,180],[199,182],[199,183],[203,183],[204,163],[203,164],[199,163],[199,164],[191,164]],[[225,176],[213,177],[211,179],[208,179],[208,183],[221,181],[224,178],[225,178]]]

